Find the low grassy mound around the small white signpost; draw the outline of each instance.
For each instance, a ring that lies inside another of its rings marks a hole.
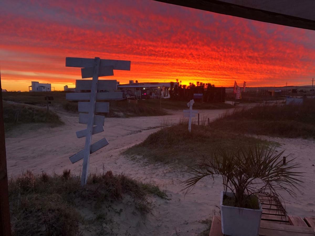
[[[192,132],[189,133],[188,123],[183,120],[177,125],[162,126],[161,130],[150,134],[142,143],[136,144],[124,153],[135,158],[142,156],[153,162],[191,165],[207,157],[218,147],[238,150],[242,146],[254,143],[269,142],[221,131],[213,125],[192,125]]]

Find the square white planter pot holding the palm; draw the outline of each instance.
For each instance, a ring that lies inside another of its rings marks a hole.
[[[221,192],[221,228],[222,233],[229,236],[257,236],[260,227],[262,208],[259,210],[223,205],[223,195],[233,197],[231,192]]]

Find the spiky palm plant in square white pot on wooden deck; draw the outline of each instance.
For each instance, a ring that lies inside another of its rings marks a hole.
[[[278,211],[286,215],[282,206],[279,190],[295,196],[295,190],[301,182],[297,179],[301,172],[296,172],[297,164],[285,165],[281,159],[284,151],[276,154],[275,147],[249,147],[228,153],[218,149],[197,164],[189,167],[194,177],[186,180],[187,192],[203,177],[220,175],[224,190],[221,192],[221,227],[222,233],[231,236],[258,235],[262,208],[258,194],[272,197]],[[187,193],[186,192],[186,193]]]

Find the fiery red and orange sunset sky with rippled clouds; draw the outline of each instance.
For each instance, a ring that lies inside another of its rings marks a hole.
[[[1,1],[2,88],[31,81],[74,87],[80,69],[66,57],[131,60],[120,83],[175,81],[233,86],[309,85],[315,31],[151,0]],[[105,79],[105,77],[102,77]]]

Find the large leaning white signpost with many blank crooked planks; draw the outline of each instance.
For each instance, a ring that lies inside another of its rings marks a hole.
[[[87,124],[87,129],[77,131],[77,137],[85,137],[84,149],[70,157],[72,163],[83,159],[81,185],[84,186],[88,179],[89,157],[90,154],[101,149],[108,144],[106,138],[99,140],[91,145],[92,135],[104,131],[105,117],[95,115],[95,112],[109,112],[109,103],[96,102],[96,100],[122,99],[123,93],[108,92],[97,93],[98,77],[113,76],[113,70],[130,70],[130,61],[107,60],[99,57],[76,58],[66,57],[66,66],[81,67],[82,78],[91,78],[91,93],[67,93],[67,100],[89,100],[89,102],[78,102],[79,112],[88,112],[89,114],[79,114],[79,123]],[[117,88],[116,80],[106,80],[106,86],[110,89]],[[103,89],[103,88],[102,88]]]

